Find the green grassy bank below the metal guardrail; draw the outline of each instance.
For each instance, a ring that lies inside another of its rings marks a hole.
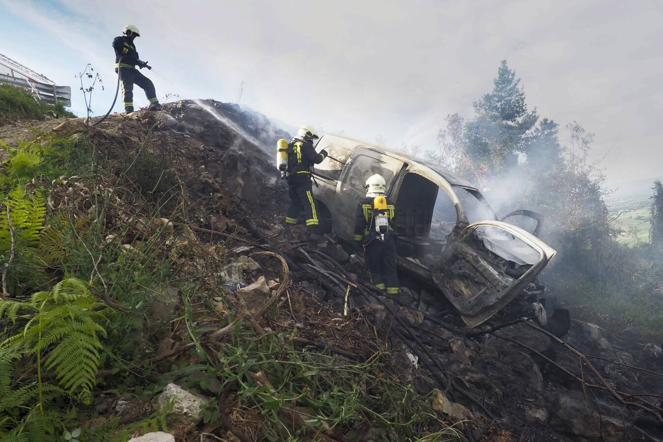
[[[34,99],[25,89],[10,85],[0,85],[0,121],[15,119],[41,120],[46,116],[54,118],[76,117],[61,104],[49,105]]]

